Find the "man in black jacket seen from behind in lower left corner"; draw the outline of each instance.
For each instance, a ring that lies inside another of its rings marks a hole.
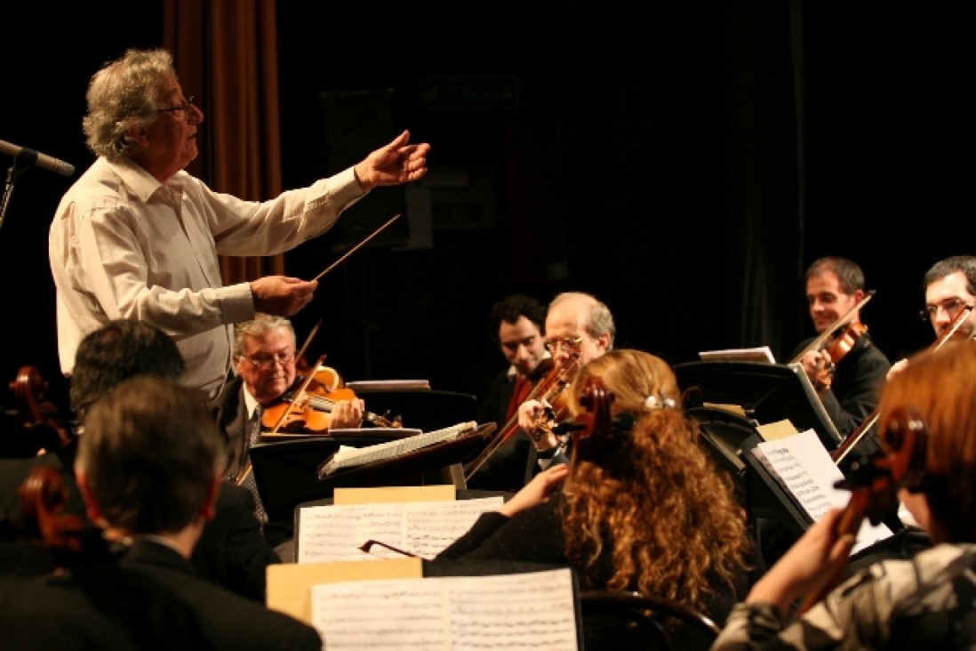
[[[75,476],[89,518],[129,549],[61,576],[0,582],[4,648],[148,648],[149,630],[169,648],[321,650],[313,628],[193,570],[225,461],[198,393],[138,376],[102,396],[85,428]]]

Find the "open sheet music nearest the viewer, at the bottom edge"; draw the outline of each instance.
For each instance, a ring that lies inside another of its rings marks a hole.
[[[568,568],[326,584],[311,600],[329,651],[579,649]]]

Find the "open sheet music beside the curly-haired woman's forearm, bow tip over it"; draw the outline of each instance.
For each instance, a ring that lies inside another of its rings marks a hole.
[[[374,546],[380,541],[422,558],[433,558],[468,532],[481,513],[501,509],[502,496],[450,502],[324,505],[303,507],[299,513],[298,562],[375,560],[398,556]]]

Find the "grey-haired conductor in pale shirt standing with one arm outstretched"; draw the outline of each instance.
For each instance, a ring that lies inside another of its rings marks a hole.
[[[83,128],[98,160],[62,197],[49,258],[65,375],[87,333],[139,318],[176,339],[183,383],[213,399],[227,379],[233,324],[256,312],[291,316],[318,286],[270,275],[224,287],[218,256],[294,249],[372,188],[422,178],[430,147],[404,131],[333,177],[245,201],[183,171],[199,153],[204,117],[185,97],[164,50],[129,50],[95,73]]]

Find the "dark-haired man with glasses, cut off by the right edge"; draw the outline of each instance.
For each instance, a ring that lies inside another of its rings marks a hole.
[[[976,306],[976,256],[951,256],[929,267],[922,277],[925,306],[918,310],[921,320],[932,324],[936,339],[953,325],[963,309]],[[969,316],[953,333],[954,340],[976,339],[976,315]],[[909,360],[895,362],[888,379],[908,366]]]

